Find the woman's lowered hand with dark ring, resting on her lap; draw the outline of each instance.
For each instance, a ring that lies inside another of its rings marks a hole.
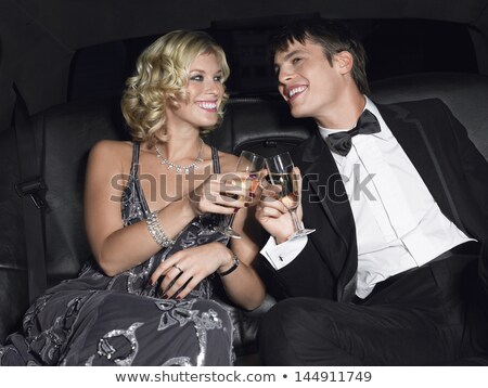
[[[160,284],[163,298],[184,298],[195,286],[217,270],[224,270],[232,263],[232,251],[222,243],[214,242],[182,249],[163,261],[150,279]],[[184,288],[182,288],[184,287]]]

